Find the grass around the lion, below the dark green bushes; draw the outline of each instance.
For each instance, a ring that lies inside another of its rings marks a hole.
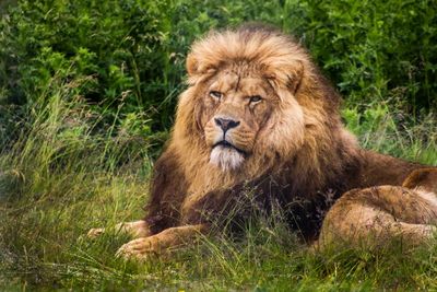
[[[31,107],[28,130],[0,155],[0,290],[437,289],[437,246],[314,254],[284,224],[262,218],[238,240],[203,238],[143,264],[116,259],[126,236],[83,235],[142,217],[150,143],[96,131],[99,117],[67,98],[70,85]],[[381,103],[349,105],[343,115],[364,147],[437,164],[435,117],[405,128],[408,118]]]

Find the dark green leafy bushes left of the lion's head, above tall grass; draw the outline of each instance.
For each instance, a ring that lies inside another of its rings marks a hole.
[[[20,1],[0,25],[3,104],[47,103],[36,98],[50,98],[56,77],[80,83],[75,94],[103,121],[119,125],[133,112],[156,117],[154,107],[174,86],[162,70],[169,67],[167,11],[164,1]]]

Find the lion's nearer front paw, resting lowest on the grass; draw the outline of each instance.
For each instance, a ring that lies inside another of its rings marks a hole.
[[[116,253],[116,257],[123,259],[145,260],[156,256],[158,250],[153,241],[141,237],[123,244]]]

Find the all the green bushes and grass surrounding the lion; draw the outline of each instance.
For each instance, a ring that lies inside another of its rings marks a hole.
[[[315,257],[262,224],[243,247],[208,243],[172,265],[115,260],[114,234],[78,240],[141,218],[186,54],[211,28],[294,35],[363,147],[436,165],[435,0],[5,0],[0,15],[0,288],[437,288],[436,248]]]

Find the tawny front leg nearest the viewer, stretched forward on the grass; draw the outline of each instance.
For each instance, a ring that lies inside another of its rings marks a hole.
[[[149,237],[133,240],[122,245],[116,255],[125,259],[146,259],[150,255],[161,255],[172,248],[193,243],[200,234],[208,231],[206,224],[170,227]]]

